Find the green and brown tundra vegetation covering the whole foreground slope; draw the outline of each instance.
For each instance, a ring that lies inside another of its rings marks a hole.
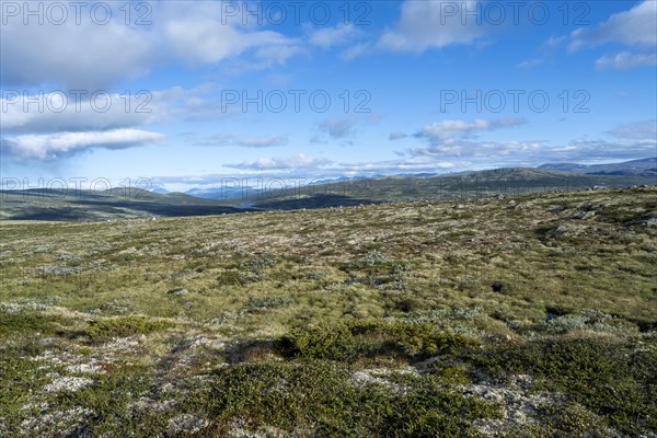
[[[0,230],[0,436],[657,436],[656,188]]]

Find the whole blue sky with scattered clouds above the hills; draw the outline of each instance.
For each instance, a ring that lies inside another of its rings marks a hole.
[[[0,5],[2,188],[657,155],[654,0]]]

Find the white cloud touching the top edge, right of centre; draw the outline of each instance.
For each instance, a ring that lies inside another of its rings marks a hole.
[[[453,14],[450,8],[477,9],[477,1],[416,1],[406,0],[394,28],[385,32],[379,46],[394,51],[423,51],[452,44],[472,44],[486,34],[476,20],[470,18],[463,23],[462,13]]]

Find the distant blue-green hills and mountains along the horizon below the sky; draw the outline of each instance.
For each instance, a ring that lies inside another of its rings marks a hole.
[[[293,189],[246,187],[232,197],[208,198],[211,192],[161,193],[115,188],[106,192],[0,191],[2,220],[107,220],[207,216],[245,210],[348,207],[406,200],[445,200],[528,193],[573,192],[592,187],[657,185],[657,159],[614,164],[551,163],[447,175],[394,175],[325,180]],[[220,189],[219,189],[220,191]],[[192,196],[195,194],[196,196]],[[200,197],[204,194],[205,197]]]

